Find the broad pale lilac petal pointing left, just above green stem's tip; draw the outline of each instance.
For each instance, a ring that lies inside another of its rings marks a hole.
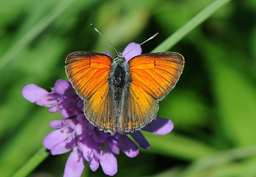
[[[47,149],[52,149],[53,146],[64,142],[65,139],[73,132],[69,127],[58,128],[53,130],[49,135],[44,138],[43,145]]]

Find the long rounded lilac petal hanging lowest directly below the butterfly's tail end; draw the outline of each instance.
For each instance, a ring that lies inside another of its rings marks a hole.
[[[113,176],[117,172],[116,156],[111,152],[106,142],[101,144],[100,165],[103,172],[109,176]]]

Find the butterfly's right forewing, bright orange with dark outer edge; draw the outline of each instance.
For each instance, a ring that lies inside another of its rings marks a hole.
[[[179,80],[184,58],[175,52],[139,55],[129,62],[132,82],[156,99],[162,99]]]

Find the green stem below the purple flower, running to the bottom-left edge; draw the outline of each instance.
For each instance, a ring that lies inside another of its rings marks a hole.
[[[25,177],[25,176],[27,176],[41,162],[43,162],[44,159],[47,158],[49,154],[50,154],[50,152],[46,151],[45,147],[42,147],[12,177],[23,177],[23,176]]]

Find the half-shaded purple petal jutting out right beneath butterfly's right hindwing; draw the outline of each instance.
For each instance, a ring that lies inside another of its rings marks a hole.
[[[170,119],[156,117],[146,127],[141,128],[141,130],[151,132],[153,134],[165,135],[170,133],[173,127],[174,125]]]

